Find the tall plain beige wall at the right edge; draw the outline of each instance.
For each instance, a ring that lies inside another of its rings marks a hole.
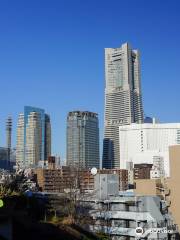
[[[169,147],[170,175],[168,187],[170,189],[170,212],[180,229],[180,145]]]

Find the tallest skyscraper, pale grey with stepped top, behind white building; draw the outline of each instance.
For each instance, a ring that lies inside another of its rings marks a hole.
[[[143,122],[139,51],[105,48],[103,168],[119,168],[120,125]]]

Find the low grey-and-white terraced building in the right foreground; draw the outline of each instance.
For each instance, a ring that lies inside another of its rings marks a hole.
[[[130,192],[113,196],[111,188],[101,186],[103,193],[109,190],[107,199],[99,198],[99,192],[94,192],[81,196],[78,201],[77,224],[86,231],[105,233],[112,240],[179,239],[168,207],[159,197]]]

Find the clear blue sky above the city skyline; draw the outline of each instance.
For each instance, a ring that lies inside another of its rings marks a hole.
[[[124,42],[141,52],[145,114],[179,122],[179,13],[179,0],[1,0],[0,146],[24,105],[50,114],[62,158],[68,111],[99,113],[102,140],[104,48]]]

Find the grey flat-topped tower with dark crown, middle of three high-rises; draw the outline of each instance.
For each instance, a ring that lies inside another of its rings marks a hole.
[[[93,112],[74,111],[67,117],[67,165],[100,167],[99,121]]]

